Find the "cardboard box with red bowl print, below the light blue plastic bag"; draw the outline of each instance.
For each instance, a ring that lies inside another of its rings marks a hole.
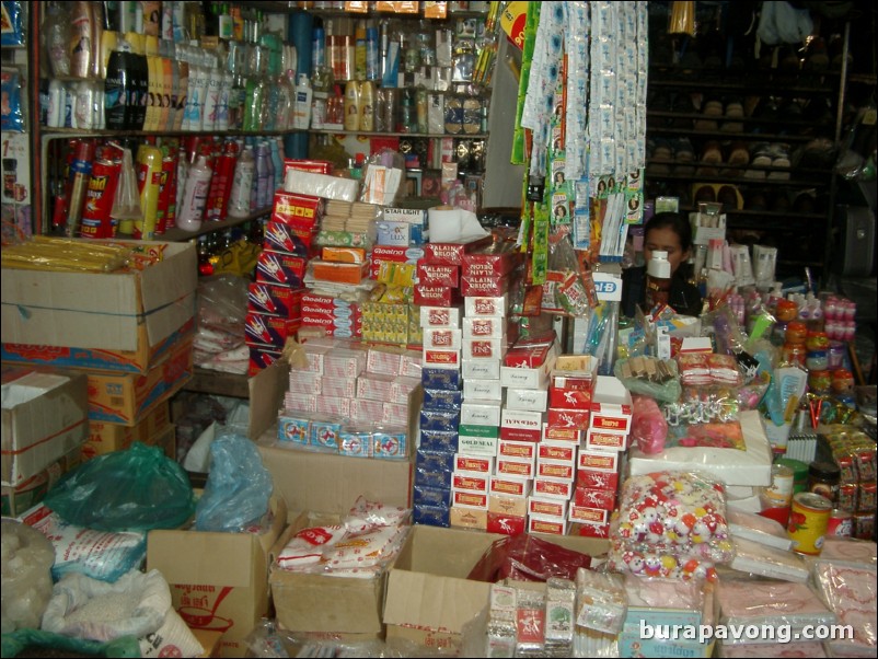
[[[273,497],[270,528],[261,534],[157,530],[147,536],[147,569],[171,587],[174,609],[190,628],[224,632],[223,657],[243,657],[244,638],[268,614],[268,555],[287,521]]]

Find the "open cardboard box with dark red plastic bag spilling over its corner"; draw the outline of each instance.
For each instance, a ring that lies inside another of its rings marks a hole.
[[[504,537],[463,529],[413,528],[388,579],[388,639],[459,647],[463,626],[487,606],[490,596],[490,583],[466,576],[492,543]],[[592,556],[609,546],[606,541],[576,536],[543,540]]]

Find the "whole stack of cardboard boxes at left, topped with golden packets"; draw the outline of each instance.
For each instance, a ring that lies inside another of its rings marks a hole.
[[[134,440],[173,454],[167,401],[193,372],[196,285],[192,244],[35,238],[4,247],[3,361],[85,374],[85,456]]]

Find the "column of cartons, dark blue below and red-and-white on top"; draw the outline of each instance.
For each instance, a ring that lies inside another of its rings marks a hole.
[[[458,452],[462,391],[460,372],[461,310],[421,307],[424,335],[420,446],[415,464],[414,522],[448,527]]]

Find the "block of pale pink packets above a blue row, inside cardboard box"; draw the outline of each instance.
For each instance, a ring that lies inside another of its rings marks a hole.
[[[278,418],[279,446],[407,460],[420,401],[420,363],[411,351],[315,338],[305,369],[290,371]]]

